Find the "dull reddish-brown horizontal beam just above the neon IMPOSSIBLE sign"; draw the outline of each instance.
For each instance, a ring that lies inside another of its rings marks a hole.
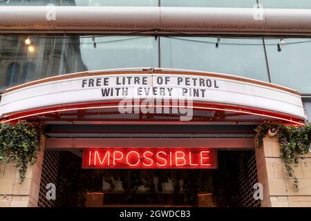
[[[68,148],[220,148],[252,149],[254,138],[47,138],[45,148],[68,151]]]

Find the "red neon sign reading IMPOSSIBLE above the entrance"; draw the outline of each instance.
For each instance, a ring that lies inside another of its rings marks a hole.
[[[89,148],[84,169],[216,169],[215,149],[209,148]]]

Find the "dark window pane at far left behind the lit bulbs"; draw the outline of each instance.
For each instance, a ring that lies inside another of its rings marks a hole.
[[[52,39],[32,37],[33,52],[28,50],[25,39],[0,35],[0,90],[47,76]],[[12,63],[15,66],[10,68]]]

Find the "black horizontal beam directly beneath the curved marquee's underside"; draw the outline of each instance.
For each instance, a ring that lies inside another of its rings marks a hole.
[[[48,127],[48,135],[255,135],[256,125],[173,125],[164,124],[54,124]]]

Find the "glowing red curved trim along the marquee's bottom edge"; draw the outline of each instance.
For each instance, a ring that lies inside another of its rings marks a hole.
[[[90,106],[92,105],[92,106]],[[127,105],[126,107],[134,108],[134,107],[142,107],[143,105]],[[105,109],[105,108],[117,108],[117,102],[100,102],[100,103],[88,103],[88,104],[68,104],[63,106],[54,106],[49,108],[39,108],[32,111],[24,111],[21,113],[16,113],[12,115],[8,115],[1,119],[0,123],[5,124],[8,122],[15,122],[19,119],[26,119],[27,117],[45,115],[48,113],[60,113],[66,111],[79,111],[79,110],[90,110],[90,109]],[[279,113],[271,113],[269,111],[256,110],[252,108],[241,108],[237,106],[225,106],[221,104],[203,104],[200,102],[194,102],[193,106],[180,106],[180,105],[153,105],[153,107],[160,108],[194,108],[196,110],[203,111],[231,111],[233,113],[241,113],[247,115],[257,115],[261,117],[268,117],[275,120],[279,120],[285,122],[287,124],[296,124],[303,125],[303,121],[298,117],[291,117],[287,115],[281,115]]]

